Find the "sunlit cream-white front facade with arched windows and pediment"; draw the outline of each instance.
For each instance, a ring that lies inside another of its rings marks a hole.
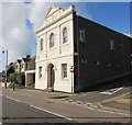
[[[55,91],[74,92],[74,72],[69,71],[74,66],[74,12],[73,5],[66,10],[51,8],[44,24],[36,31],[35,89],[52,88]],[[64,29],[67,30],[65,43]],[[50,44],[52,34],[54,34],[52,39],[54,43]],[[64,65],[65,69],[63,69]]]

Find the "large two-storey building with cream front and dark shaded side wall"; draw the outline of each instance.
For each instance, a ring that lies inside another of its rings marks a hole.
[[[35,89],[77,92],[130,73],[130,42],[121,33],[66,10],[50,9],[36,31]]]

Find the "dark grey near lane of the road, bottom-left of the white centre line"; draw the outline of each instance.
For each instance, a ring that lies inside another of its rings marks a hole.
[[[64,117],[34,109],[24,103],[2,98],[2,123],[69,123]]]

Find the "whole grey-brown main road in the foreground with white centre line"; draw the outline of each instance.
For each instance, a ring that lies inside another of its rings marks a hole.
[[[130,115],[52,100],[48,98],[52,93],[9,89],[2,93],[3,122],[130,123]]]

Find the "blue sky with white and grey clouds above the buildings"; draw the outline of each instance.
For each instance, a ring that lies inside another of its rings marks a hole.
[[[37,2],[36,2],[37,1]],[[9,52],[8,61],[22,56],[36,55],[36,30],[43,25],[45,14],[51,7],[63,9],[74,4],[77,14],[108,26],[122,34],[130,34],[130,2],[92,0],[94,2],[48,2],[46,0],[4,0],[0,2],[0,49]],[[0,53],[0,69],[4,69],[6,53]]]

